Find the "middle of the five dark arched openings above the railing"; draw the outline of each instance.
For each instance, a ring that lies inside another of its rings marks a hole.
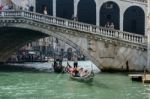
[[[80,0],[78,4],[78,21],[96,24],[96,4],[94,0]]]

